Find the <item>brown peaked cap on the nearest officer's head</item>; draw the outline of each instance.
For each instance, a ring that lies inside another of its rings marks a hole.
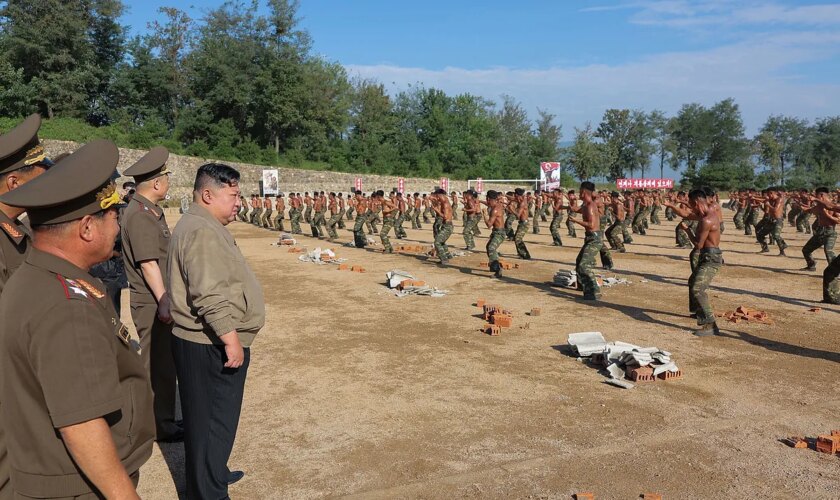
[[[95,140],[0,196],[0,202],[26,209],[33,225],[68,222],[111,208],[120,202],[111,180],[119,157],[113,142]]]

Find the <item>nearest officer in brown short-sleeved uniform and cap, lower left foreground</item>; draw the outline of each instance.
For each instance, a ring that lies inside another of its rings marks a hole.
[[[119,153],[97,140],[0,196],[26,209],[32,249],[0,297],[3,421],[15,498],[137,498],[152,452],[138,346],[88,269],[119,232]]]

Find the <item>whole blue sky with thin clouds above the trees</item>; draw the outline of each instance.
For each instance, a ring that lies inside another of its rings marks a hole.
[[[161,5],[194,18],[218,0],[134,3],[134,33]],[[565,139],[610,107],[741,106],[749,134],[770,114],[840,114],[840,3],[763,0],[302,0],[314,51],[398,91],[449,93],[557,115]]]

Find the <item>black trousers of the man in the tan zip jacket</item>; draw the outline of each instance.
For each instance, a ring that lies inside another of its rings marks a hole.
[[[236,439],[251,350],[240,368],[225,368],[224,346],[172,337],[184,414],[187,498],[228,498],[227,461]]]

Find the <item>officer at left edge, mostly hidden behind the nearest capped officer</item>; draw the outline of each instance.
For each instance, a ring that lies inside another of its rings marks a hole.
[[[41,117],[32,115],[0,136],[0,195],[44,173],[52,162],[38,140]],[[12,273],[23,264],[30,247],[29,230],[18,217],[22,208],[0,203],[0,293]],[[5,428],[0,424],[0,500],[12,498]]]

